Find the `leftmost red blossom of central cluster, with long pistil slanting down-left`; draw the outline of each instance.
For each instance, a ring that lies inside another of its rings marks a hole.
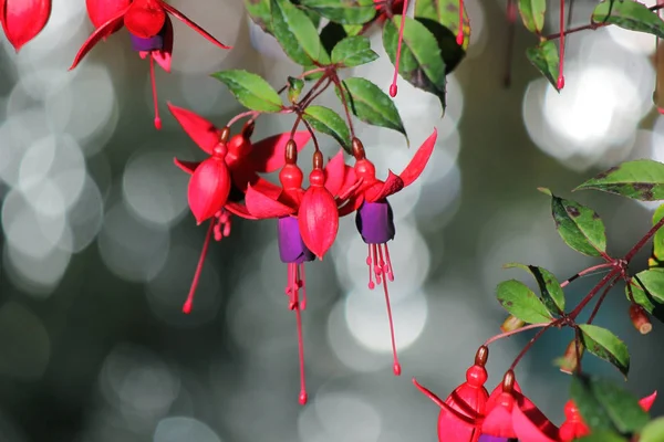
[[[203,271],[210,239],[220,241],[230,234],[231,211],[245,198],[248,186],[261,189],[267,194],[278,194],[280,188],[260,178],[257,172],[272,172],[283,165],[287,141],[290,133],[279,134],[257,143],[251,141],[253,123],[246,124],[240,134],[230,139],[230,129],[217,128],[191,110],[168,104],[173,116],[189,137],[209,157],[203,161],[185,161],[175,158],[175,165],[191,176],[188,187],[189,208],[198,224],[211,219],[205,238],[200,259],[194,274],[184,313],[190,313],[196,287]],[[298,131],[294,139],[302,149],[309,141],[309,131]]]

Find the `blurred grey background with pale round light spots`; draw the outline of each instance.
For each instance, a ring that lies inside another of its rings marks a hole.
[[[577,0],[573,22],[587,23],[594,3]],[[170,101],[222,126],[241,108],[211,72],[242,67],[279,87],[300,71],[249,22],[239,0],[173,4],[235,49],[222,51],[175,23],[173,73],[157,70],[162,131],[152,125],[147,62],[132,52],[126,31],[66,71],[92,31],[82,0],[55,0],[48,28],[20,55],[1,42],[3,442],[435,441],[438,410],[411,378],[442,397],[464,380],[477,347],[505,318],[496,284],[532,284],[501,265],[541,265],[562,281],[596,263],[562,243],[549,200],[536,188],[569,198],[618,161],[664,160],[664,118],[651,102],[652,36],[620,29],[570,35],[567,86],[558,95],[525,57],[536,39],[518,25],[513,82],[505,90],[505,2],[467,0],[474,33],[449,77],[445,118],[433,96],[400,80],[396,104],[411,149],[397,133],[359,124],[382,176],[400,172],[433,127],[439,131],[423,177],[391,198],[397,235],[390,290],[403,376],[392,375],[382,293],[366,287],[365,246],[354,220],[344,219],[330,254],[307,267],[310,403],[302,408],[295,320],[273,221],[235,219],[230,238],[210,245],[193,313],[180,313],[206,228],[196,227],[187,177],[172,160],[203,152],[165,106]],[[386,90],[392,66],[380,34],[372,41],[383,57],[355,74]],[[333,94],[320,104],[339,108]],[[255,139],[291,124],[261,117]],[[335,151],[330,138],[320,140],[325,152]],[[654,208],[573,197],[603,217],[614,254],[647,230]],[[636,266],[644,264],[645,254]],[[571,284],[568,303],[596,281]],[[622,291],[614,290],[596,323],[629,344],[629,386],[643,396],[664,386],[663,327],[640,336]],[[489,389],[530,336],[491,347]],[[517,371],[557,423],[569,377],[552,359],[571,337],[546,335]],[[619,379],[592,357],[584,368]]]

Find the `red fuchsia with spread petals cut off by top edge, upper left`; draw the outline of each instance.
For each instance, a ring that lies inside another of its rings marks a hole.
[[[157,103],[154,63],[157,62],[164,71],[170,72],[173,23],[168,14],[180,20],[217,46],[230,49],[163,0],[86,0],[85,3],[87,15],[96,30],[83,43],[70,70],[76,67],[100,40],[105,40],[124,24],[129,31],[134,51],[138,52],[142,59],[149,56],[149,77],[157,129],[162,128],[162,119]]]

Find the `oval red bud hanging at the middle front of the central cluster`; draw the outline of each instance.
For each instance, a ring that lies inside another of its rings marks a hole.
[[[304,245],[319,259],[330,250],[339,231],[334,197],[321,186],[312,186],[302,197],[298,223]]]

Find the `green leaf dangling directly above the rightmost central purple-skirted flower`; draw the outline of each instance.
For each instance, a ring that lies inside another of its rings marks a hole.
[[[353,115],[370,125],[394,129],[406,137],[406,129],[392,98],[369,80],[351,77],[342,82],[346,103]],[[340,96],[339,88],[335,88]]]

